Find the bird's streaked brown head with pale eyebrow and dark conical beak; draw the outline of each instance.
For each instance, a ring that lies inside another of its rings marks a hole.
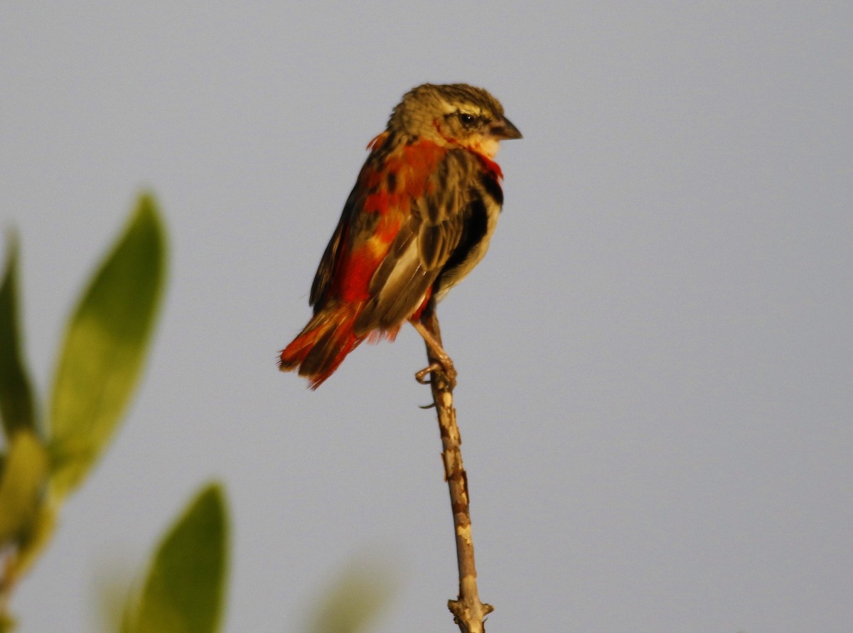
[[[503,115],[500,102],[467,84],[423,84],[409,90],[394,108],[388,131],[407,139],[427,139],[442,147],[467,148],[492,159],[502,140],[521,138]]]

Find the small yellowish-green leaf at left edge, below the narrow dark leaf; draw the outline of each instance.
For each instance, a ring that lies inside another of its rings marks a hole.
[[[0,479],[0,549],[33,531],[47,483],[48,456],[32,431],[15,433]]]

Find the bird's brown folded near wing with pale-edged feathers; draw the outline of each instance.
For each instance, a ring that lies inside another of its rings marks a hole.
[[[370,279],[357,332],[396,328],[421,305],[465,232],[477,169],[473,154],[459,149],[431,171]]]

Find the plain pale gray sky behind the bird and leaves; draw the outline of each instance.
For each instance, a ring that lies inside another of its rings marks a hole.
[[[212,477],[226,630],[300,630],[365,556],[397,574],[376,630],[455,630],[420,338],[318,392],[276,371],[365,145],[426,81],[525,135],[439,310],[489,630],[849,631],[853,3],[5,2],[2,221],[43,396],[140,189],[171,243],[142,388],[22,633],[96,630],[98,584]]]

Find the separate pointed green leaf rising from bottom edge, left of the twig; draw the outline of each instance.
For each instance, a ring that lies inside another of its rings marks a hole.
[[[223,491],[208,485],[165,536],[122,633],[214,633],[223,612],[227,552]]]

